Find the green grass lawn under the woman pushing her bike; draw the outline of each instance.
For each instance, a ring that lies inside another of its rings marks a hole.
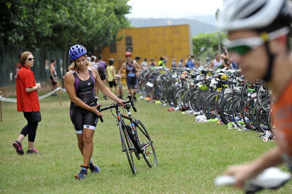
[[[45,93],[43,93],[45,94]],[[39,95],[43,95],[39,94]],[[17,155],[12,143],[27,123],[16,103],[3,102],[0,123],[0,193],[244,193],[234,187],[216,187],[215,177],[230,165],[242,164],[262,155],[275,142],[263,142],[253,131],[228,130],[217,123],[196,123],[194,116],[168,112],[160,106],[138,100],[137,113],[147,128],[157,155],[157,167],[149,168],[144,159],[135,158],[137,175],[131,172],[116,120],[104,111],[104,123],[98,122],[93,138],[93,160],[98,174],[89,173],[85,180],[74,175],[83,158],[77,146],[74,127],[69,118],[69,97],[40,101],[42,121],[39,123],[35,147],[41,155]],[[99,104],[108,104],[103,100]],[[22,142],[27,150],[27,137]],[[269,161],[267,161],[269,162]],[[288,171],[286,166],[281,166]],[[261,193],[291,193],[292,181],[279,190]]]

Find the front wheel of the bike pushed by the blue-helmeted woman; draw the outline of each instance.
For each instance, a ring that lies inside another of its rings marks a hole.
[[[128,139],[128,134],[125,129],[125,126],[122,126],[121,123],[119,123],[119,128],[120,128],[120,134],[121,134],[121,142],[122,142],[122,148],[124,152],[126,152],[131,170],[133,174],[136,174],[136,167],[135,167],[135,162],[132,154],[133,146],[131,145],[131,142]]]

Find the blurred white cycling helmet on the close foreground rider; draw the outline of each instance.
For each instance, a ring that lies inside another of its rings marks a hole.
[[[232,31],[264,29],[275,23],[283,23],[281,27],[286,23],[287,26],[287,23],[291,24],[291,4],[288,0],[226,0],[219,13],[219,28]]]

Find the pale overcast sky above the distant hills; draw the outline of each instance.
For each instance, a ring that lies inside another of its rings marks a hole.
[[[214,15],[223,0],[131,0],[128,18],[187,18],[193,15]]]

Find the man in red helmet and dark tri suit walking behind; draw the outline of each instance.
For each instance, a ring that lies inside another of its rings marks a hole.
[[[131,53],[126,52],[125,53],[126,62],[124,62],[119,70],[119,75],[121,76],[121,73],[124,69],[126,69],[127,72],[127,85],[129,89],[129,94],[133,97],[134,101],[137,102],[136,99],[136,93],[137,93],[137,87],[138,87],[138,79],[137,76],[140,75],[141,67],[136,61],[131,60]],[[133,89],[133,93],[132,93]]]

